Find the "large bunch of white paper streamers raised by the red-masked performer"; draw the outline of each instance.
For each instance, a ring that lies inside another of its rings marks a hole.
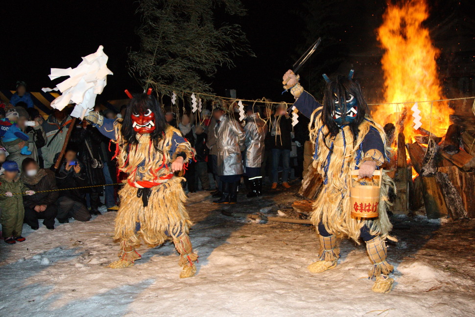
[[[107,75],[113,73],[107,68],[109,57],[104,54],[101,45],[97,51],[82,57],[82,62],[76,68],[52,68],[49,78],[51,80],[69,76],[68,79],[56,85],[56,88],[43,88],[44,92],[60,91],[61,96],[51,102],[51,107],[62,110],[70,103],[76,106],[71,113],[72,117],[82,118],[90,110],[94,109],[95,98],[101,94],[107,85]]]

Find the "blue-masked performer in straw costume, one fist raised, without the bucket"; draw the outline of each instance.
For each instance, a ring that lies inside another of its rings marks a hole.
[[[338,76],[327,81],[323,106],[298,82],[292,71],[284,75],[284,88],[296,98],[294,107],[310,118],[310,141],[315,144],[313,167],[322,175],[323,186],[313,204],[312,223],[317,226],[320,240],[319,261],[309,270],[319,273],[335,268],[340,256],[336,241],[349,237],[359,244],[362,238],[373,264],[370,278],[376,278],[373,291],[388,293],[393,279],[388,274],[393,266],[386,261],[385,240],[392,228],[387,216],[387,192],[393,183],[383,171],[380,202],[365,208],[377,208],[379,217],[361,219],[351,216],[354,208],[350,199],[352,178],[350,172],[359,169],[359,178],[371,178],[385,160],[389,150],[385,144],[382,127],[368,114],[359,84],[353,80],[353,70],[348,77]]]

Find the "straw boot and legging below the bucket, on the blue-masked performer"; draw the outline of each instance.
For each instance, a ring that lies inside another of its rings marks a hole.
[[[386,261],[386,243],[380,236],[377,236],[366,242],[366,250],[371,263],[373,263],[373,268],[369,271],[369,277],[376,277],[372,288],[373,292],[389,293],[393,287],[394,279],[388,277],[388,274],[393,271],[394,267]]]

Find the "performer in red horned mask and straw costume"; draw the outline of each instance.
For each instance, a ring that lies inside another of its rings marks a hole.
[[[119,191],[120,206],[115,224],[115,241],[120,243],[119,260],[111,268],[134,265],[141,258],[135,250],[142,240],[150,247],[172,239],[180,253],[180,277],[196,273],[188,237],[191,224],[185,209],[183,177],[175,176],[192,158],[190,143],[180,131],[166,123],[157,98],[150,94],[134,96],[123,119],[103,118],[90,112],[85,119],[117,143],[119,171],[128,174]]]

